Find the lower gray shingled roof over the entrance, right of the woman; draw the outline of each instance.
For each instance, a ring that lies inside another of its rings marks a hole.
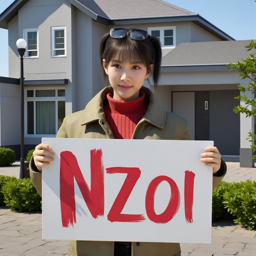
[[[162,66],[236,63],[251,51],[244,48],[251,40],[181,43],[162,58]]]

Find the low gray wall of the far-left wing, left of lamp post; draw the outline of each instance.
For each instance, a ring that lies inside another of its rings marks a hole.
[[[0,83],[0,146],[20,144],[20,86]]]

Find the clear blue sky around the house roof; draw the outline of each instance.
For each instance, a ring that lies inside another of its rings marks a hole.
[[[0,1],[2,13],[13,0]],[[200,14],[236,40],[256,39],[254,0],[167,0]],[[248,25],[249,24],[249,25]],[[8,77],[8,31],[0,28],[0,76]]]

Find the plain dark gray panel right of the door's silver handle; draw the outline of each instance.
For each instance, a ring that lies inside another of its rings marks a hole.
[[[239,155],[240,115],[233,112],[239,90],[210,91],[210,140],[222,155]]]

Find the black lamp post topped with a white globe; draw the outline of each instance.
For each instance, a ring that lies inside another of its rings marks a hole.
[[[27,42],[24,39],[18,39],[18,52],[20,55],[20,170],[19,177],[23,179],[24,175],[24,71],[23,56],[26,51]]]

